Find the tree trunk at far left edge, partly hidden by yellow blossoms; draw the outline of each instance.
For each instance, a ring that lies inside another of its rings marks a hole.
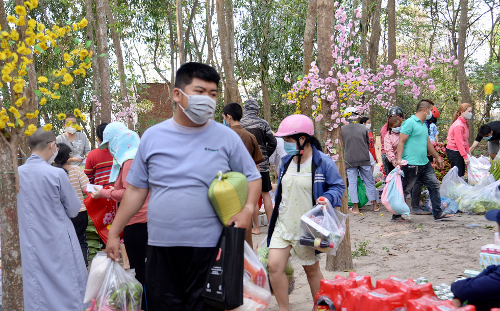
[[[7,15],[4,1],[0,0],[0,25],[7,30]],[[8,87],[8,86],[6,86]],[[31,88],[33,91],[33,88]],[[27,94],[30,95],[30,94]],[[28,98],[27,100],[30,100]],[[19,223],[17,219],[17,193],[19,175],[17,174],[17,146],[19,136],[10,141],[0,135],[0,230],[2,240],[2,306],[4,310],[24,310],[22,293],[21,248],[19,244]]]

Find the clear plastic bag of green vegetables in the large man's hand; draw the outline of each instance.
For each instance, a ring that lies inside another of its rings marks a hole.
[[[91,268],[89,279],[91,277],[102,281],[99,280],[101,287],[86,311],[141,311],[142,285],[135,278],[134,269],[125,271],[117,261],[112,260],[105,271]]]

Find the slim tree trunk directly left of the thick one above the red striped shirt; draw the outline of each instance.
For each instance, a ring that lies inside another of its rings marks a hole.
[[[85,18],[87,19],[87,38],[90,42],[90,50],[96,51],[94,44],[94,13],[92,9],[93,0],[85,0]],[[97,55],[97,54],[96,54]],[[92,57],[92,95],[97,98],[97,101],[101,103],[101,93],[99,92],[99,63],[96,57]],[[101,117],[95,113],[96,106],[92,101],[92,111],[90,115],[91,126],[94,124],[101,124]],[[92,141],[95,141],[95,131],[92,129]]]

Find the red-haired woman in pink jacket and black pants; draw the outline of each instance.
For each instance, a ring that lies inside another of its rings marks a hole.
[[[465,175],[465,165],[469,164],[469,124],[467,121],[472,118],[472,106],[467,103],[460,105],[455,116],[453,124],[449,127],[446,137],[446,155],[449,164],[457,166],[458,176]]]

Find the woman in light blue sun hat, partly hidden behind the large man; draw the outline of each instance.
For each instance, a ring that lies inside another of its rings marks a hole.
[[[109,182],[114,182],[114,186],[109,189],[97,188],[91,193],[92,198],[105,198],[120,203],[123,194],[129,186],[127,175],[134,161],[139,148],[139,135],[127,128],[121,122],[111,122],[103,132],[103,142],[99,149],[108,149],[113,156],[113,165],[109,174]],[[142,204],[141,209],[127,223],[123,229],[123,244],[129,257],[130,268],[135,269],[135,277],[144,288],[145,262],[147,251],[147,204],[149,194]],[[119,210],[119,207],[118,207]],[[142,293],[142,305],[146,305]]]

